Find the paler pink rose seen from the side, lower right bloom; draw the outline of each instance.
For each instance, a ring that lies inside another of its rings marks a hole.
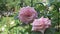
[[[51,26],[51,20],[48,18],[41,17],[40,19],[35,19],[32,23],[32,31],[40,31],[44,33],[44,30]]]

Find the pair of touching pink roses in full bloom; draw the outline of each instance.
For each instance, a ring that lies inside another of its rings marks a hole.
[[[32,22],[32,31],[44,32],[51,26],[51,20],[49,18],[38,18],[38,13],[33,7],[23,7],[19,11],[19,19],[25,23]]]

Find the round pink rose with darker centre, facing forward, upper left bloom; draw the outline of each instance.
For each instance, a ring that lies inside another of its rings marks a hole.
[[[37,18],[37,12],[32,7],[23,7],[19,11],[19,19],[28,24],[29,22],[33,21]]]

